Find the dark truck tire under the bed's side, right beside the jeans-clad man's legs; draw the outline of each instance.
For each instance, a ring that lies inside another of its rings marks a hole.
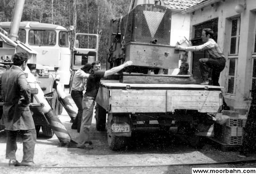
[[[98,103],[95,106],[95,119],[97,131],[104,131],[106,128],[106,114],[107,111]]]

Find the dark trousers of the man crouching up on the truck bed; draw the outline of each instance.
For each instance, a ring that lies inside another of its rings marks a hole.
[[[199,65],[200,65],[201,75],[203,79],[204,80],[209,79],[211,75],[210,71],[212,69],[212,85],[220,86],[219,84],[220,72],[223,71],[223,69],[225,68],[225,64],[226,64],[225,58],[219,58],[219,59],[205,58],[203,59],[203,61],[200,61]]]

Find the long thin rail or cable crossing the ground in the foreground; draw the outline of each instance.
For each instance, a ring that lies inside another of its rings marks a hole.
[[[131,165],[131,166],[62,166],[62,167],[54,167],[54,166],[47,166],[47,167],[0,167],[1,168],[25,168],[25,169],[35,169],[35,168],[121,168],[121,167],[161,167],[161,166],[194,166],[194,165],[210,165],[210,164],[234,164],[234,163],[249,163],[249,162],[256,162],[256,160],[238,160],[238,161],[226,161],[226,162],[204,162],[204,163],[188,163],[188,164],[163,164],[163,165]],[[57,165],[57,164],[56,164]]]

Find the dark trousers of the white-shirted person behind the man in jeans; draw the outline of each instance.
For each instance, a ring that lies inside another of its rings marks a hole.
[[[83,91],[71,91],[71,97],[74,100],[76,107],[78,108],[78,112],[76,118],[72,124],[72,127],[77,127],[77,132],[80,132],[81,120],[83,115],[83,107],[82,107],[82,99],[83,99]]]

